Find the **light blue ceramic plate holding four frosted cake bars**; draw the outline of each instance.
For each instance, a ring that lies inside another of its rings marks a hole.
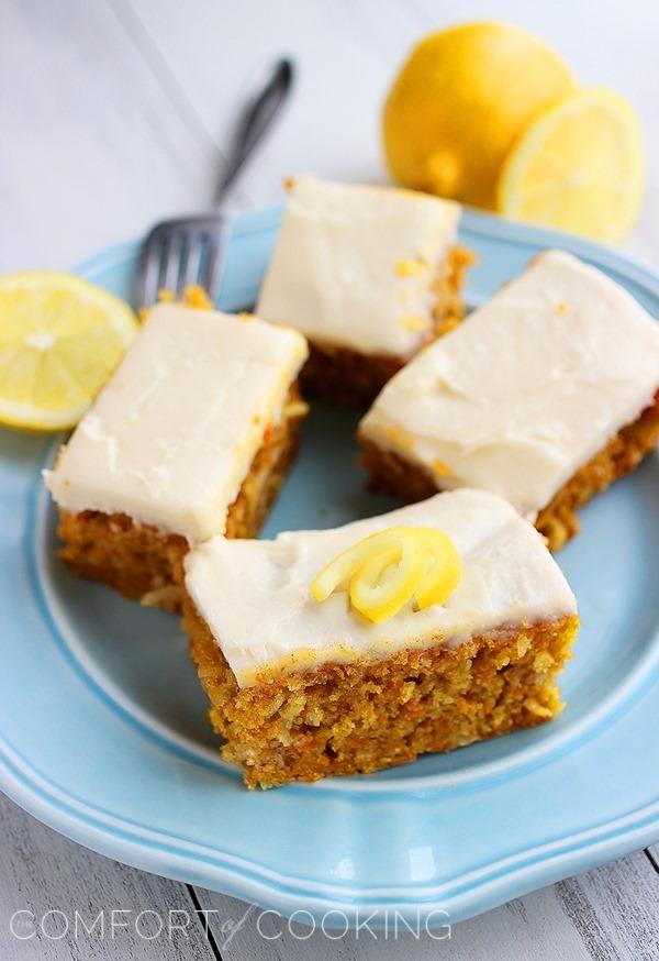
[[[236,222],[222,307],[254,300],[279,217]],[[480,257],[471,303],[562,246],[659,316],[659,280],[591,244],[474,214],[462,240]],[[116,247],[80,273],[127,297],[135,254]],[[393,505],[364,490],[356,420],[312,412],[266,535]],[[353,920],[459,920],[659,839],[657,455],[583,511],[559,554],[583,628],[556,721],[375,775],[248,793],[217,755],[176,619],[56,560],[41,470],[57,443],[0,433],[0,786],[37,818],[158,874]]]

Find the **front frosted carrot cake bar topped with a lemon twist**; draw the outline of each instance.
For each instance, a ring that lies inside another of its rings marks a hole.
[[[439,494],[273,541],[217,537],[185,570],[210,718],[249,787],[377,771],[561,708],[576,600],[496,495]]]

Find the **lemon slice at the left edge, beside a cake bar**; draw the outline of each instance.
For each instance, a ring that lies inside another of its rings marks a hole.
[[[79,277],[0,276],[0,423],[76,424],[137,329],[127,305]]]

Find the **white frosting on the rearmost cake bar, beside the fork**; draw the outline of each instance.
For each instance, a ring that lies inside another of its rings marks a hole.
[[[433,329],[459,216],[426,194],[298,177],[257,313],[320,344],[406,357]]]

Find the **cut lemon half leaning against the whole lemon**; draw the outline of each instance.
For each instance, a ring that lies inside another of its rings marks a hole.
[[[562,98],[525,128],[503,164],[501,213],[600,241],[619,241],[644,185],[640,130],[629,104],[599,88]]]

